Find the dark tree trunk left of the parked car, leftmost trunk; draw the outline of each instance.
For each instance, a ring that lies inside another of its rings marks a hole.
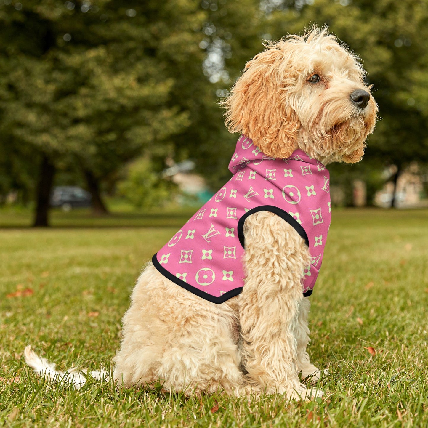
[[[48,227],[49,202],[51,197],[55,166],[44,155],[40,166],[39,183],[37,184],[37,205],[34,218],[34,227]]]

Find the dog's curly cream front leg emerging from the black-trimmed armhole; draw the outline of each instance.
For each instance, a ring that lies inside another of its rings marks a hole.
[[[269,393],[285,392],[293,399],[321,396],[298,377],[295,327],[307,247],[288,223],[266,211],[247,218],[244,235],[247,279],[239,318],[247,376]]]

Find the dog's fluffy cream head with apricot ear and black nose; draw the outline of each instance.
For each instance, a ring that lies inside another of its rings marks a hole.
[[[360,161],[377,105],[357,57],[316,27],[267,47],[223,102],[229,131],[276,158],[299,148],[323,163]]]

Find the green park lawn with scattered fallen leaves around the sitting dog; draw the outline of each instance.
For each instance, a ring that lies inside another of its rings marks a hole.
[[[322,399],[199,400],[93,379],[75,391],[36,377],[27,344],[59,369],[109,367],[140,269],[183,223],[146,220],[0,230],[0,426],[428,426],[427,210],[333,210],[310,297],[309,353],[330,370]]]

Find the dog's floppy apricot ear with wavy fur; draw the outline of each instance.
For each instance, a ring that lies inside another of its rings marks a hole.
[[[286,43],[278,42],[249,61],[222,102],[229,132],[241,132],[273,158],[294,152],[300,127],[284,84]]]

